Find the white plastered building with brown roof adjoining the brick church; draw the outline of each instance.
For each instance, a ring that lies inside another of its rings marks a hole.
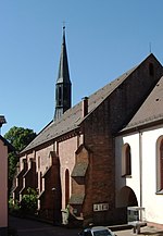
[[[163,77],[115,137],[116,207],[145,208],[141,220],[163,225]]]

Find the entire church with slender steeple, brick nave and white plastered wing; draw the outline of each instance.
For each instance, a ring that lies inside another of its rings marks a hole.
[[[142,62],[72,107],[65,28],[53,120],[20,153],[14,200],[37,189],[38,215],[86,226],[123,224],[143,207],[163,224],[163,66]]]

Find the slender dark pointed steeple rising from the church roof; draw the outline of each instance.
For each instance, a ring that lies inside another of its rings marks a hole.
[[[55,84],[55,113],[54,120],[72,107],[72,83],[70,79],[68,61],[65,44],[65,26],[63,27],[63,39],[60,55],[59,74]]]

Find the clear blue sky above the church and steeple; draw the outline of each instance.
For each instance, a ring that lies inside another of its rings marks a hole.
[[[40,132],[54,113],[65,22],[73,104],[151,51],[163,63],[162,0],[0,0],[0,114]]]

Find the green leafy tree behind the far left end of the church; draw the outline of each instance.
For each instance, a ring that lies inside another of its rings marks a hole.
[[[18,152],[22,151],[34,138],[36,133],[29,128],[12,127],[4,135],[4,138],[15,148],[15,151],[9,153],[9,188],[15,174],[18,161]]]

